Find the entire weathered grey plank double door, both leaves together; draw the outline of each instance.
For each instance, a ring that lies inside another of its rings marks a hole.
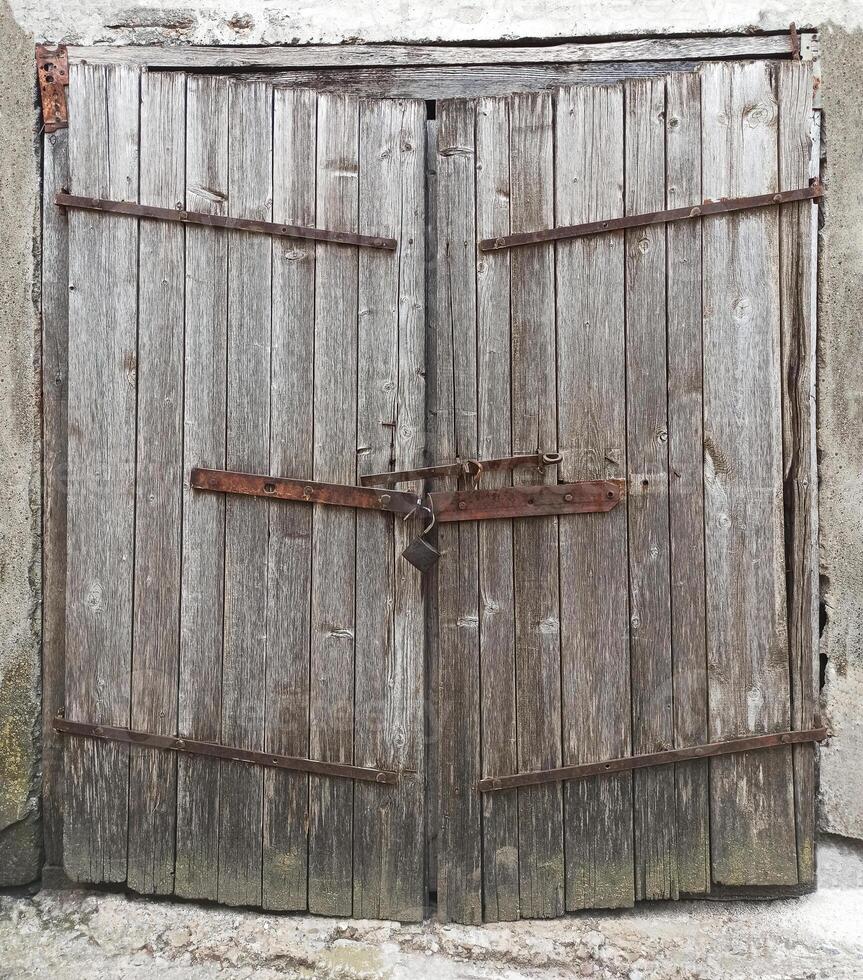
[[[396,247],[70,208],[66,719],[179,741],[67,738],[67,873],[464,922],[811,886],[811,744],[479,788],[813,724],[812,204],[478,248],[805,185],[807,69],[430,107],[79,65],[69,96],[74,195]],[[189,486],[537,450],[483,487],[627,499],[441,525],[426,575],[416,517]]]

